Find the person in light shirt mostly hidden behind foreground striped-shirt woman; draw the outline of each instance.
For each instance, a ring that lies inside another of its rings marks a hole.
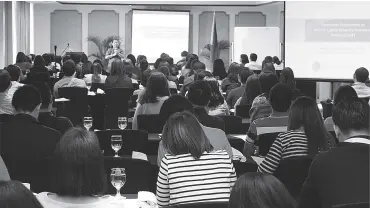
[[[194,112],[193,105],[189,102],[188,99],[183,97],[182,95],[172,95],[166,101],[163,102],[161,107],[161,111],[159,113],[161,120],[163,123],[166,123],[167,119],[174,113],[188,111],[190,113]],[[229,141],[227,140],[225,132],[221,131],[220,129],[215,129],[211,127],[202,126],[204,134],[209,139],[211,145],[214,147],[215,150],[226,150],[229,154],[230,158],[233,158],[233,151],[230,146]],[[163,147],[163,142],[159,142],[158,147],[158,158],[157,163],[160,166],[162,158],[165,154],[165,149]]]

